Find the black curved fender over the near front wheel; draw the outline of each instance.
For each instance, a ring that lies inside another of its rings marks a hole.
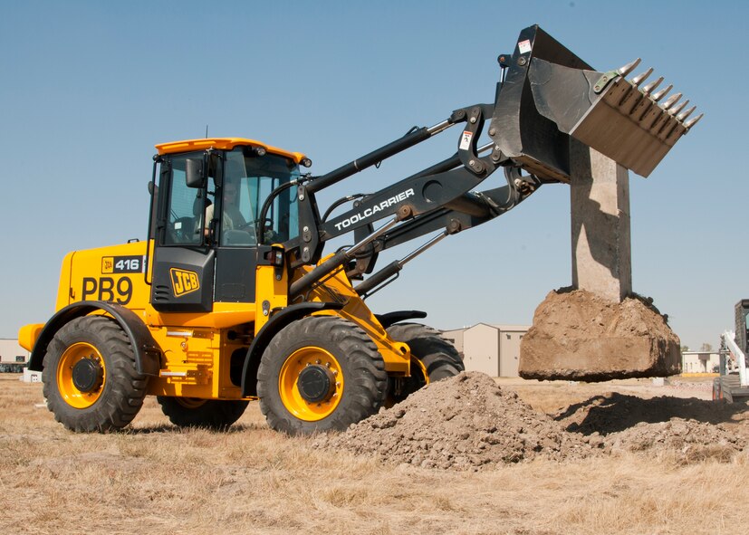
[[[260,329],[254,337],[250,348],[247,349],[245,366],[242,368],[242,396],[257,396],[257,368],[260,367],[260,358],[263,352],[276,334],[289,323],[301,320],[312,312],[320,310],[341,310],[343,303],[340,302],[301,302],[289,305],[283,310],[276,312],[270,320]]]

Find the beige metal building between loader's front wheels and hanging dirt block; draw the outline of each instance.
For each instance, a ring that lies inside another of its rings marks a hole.
[[[476,323],[465,329],[445,330],[463,357],[467,371],[481,371],[491,377],[518,377],[520,340],[530,325]]]

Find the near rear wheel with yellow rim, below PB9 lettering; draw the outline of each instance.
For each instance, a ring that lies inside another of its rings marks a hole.
[[[54,418],[72,431],[105,433],[130,424],[148,377],[120,326],[105,316],[76,318],[47,347],[43,394]]]

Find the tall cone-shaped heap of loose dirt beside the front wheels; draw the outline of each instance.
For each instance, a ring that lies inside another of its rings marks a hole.
[[[543,455],[552,459],[591,454],[582,435],[568,433],[511,391],[480,372],[433,383],[341,435],[316,445],[380,454],[394,463],[470,470],[517,463]]]

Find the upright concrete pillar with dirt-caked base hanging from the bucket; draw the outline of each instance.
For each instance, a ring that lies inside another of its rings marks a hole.
[[[552,291],[523,337],[519,373],[605,381],[681,372],[679,339],[652,301],[630,298],[629,174],[571,140],[572,288]]]

